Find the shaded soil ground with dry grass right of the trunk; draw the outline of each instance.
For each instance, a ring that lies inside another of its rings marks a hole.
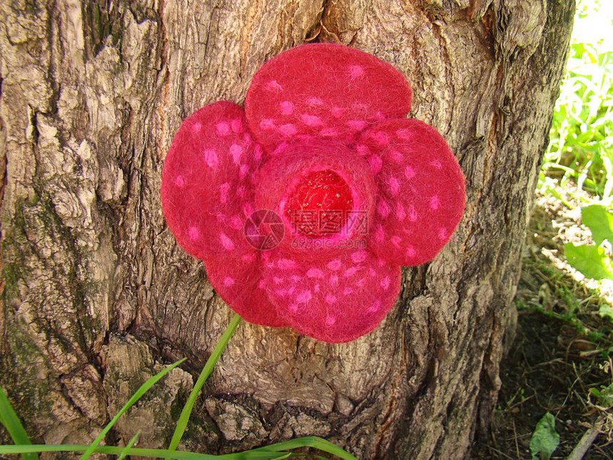
[[[537,196],[515,297],[517,336],[503,360],[503,387],[490,439],[473,448],[474,459],[531,459],[530,438],[550,412],[560,445],[552,459],[566,459],[596,424],[600,433],[584,459],[613,459],[613,408],[597,406],[590,388],[612,384],[613,322],[599,309],[612,302],[613,283],[602,286],[564,262],[565,242],[590,242],[579,203]],[[612,387],[613,388],[613,387]],[[581,458],[581,457],[577,457]]]

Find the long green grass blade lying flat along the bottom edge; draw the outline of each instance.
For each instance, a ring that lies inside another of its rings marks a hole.
[[[0,455],[2,454],[24,454],[33,452],[83,452],[89,449],[88,445],[75,445],[75,444],[29,444],[29,445],[15,445],[15,446],[0,446]],[[121,455],[123,451],[126,451],[128,455],[145,456],[154,459],[185,459],[185,460],[279,460],[286,459],[287,452],[277,451],[258,451],[246,455],[245,452],[239,452],[237,454],[226,455],[211,455],[211,454],[197,454],[196,452],[185,451],[169,451],[168,449],[140,449],[130,447],[118,446],[96,446],[93,449],[94,452],[108,455]]]

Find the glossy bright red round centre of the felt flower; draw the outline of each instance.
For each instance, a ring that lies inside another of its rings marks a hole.
[[[337,235],[345,227],[354,199],[349,185],[333,170],[306,174],[287,201],[294,232],[308,237]]]

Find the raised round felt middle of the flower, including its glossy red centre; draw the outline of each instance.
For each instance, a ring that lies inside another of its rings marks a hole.
[[[333,175],[336,187],[318,184],[321,175]],[[368,163],[354,150],[333,141],[293,143],[283,155],[270,158],[255,180],[256,208],[273,210],[284,222],[280,250],[317,259],[357,241],[366,243],[376,183]]]

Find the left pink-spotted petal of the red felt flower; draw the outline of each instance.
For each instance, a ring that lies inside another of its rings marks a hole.
[[[244,238],[252,213],[252,173],[262,150],[231,102],[201,108],[183,121],[164,161],[162,206],[177,242],[202,260],[253,250]]]

